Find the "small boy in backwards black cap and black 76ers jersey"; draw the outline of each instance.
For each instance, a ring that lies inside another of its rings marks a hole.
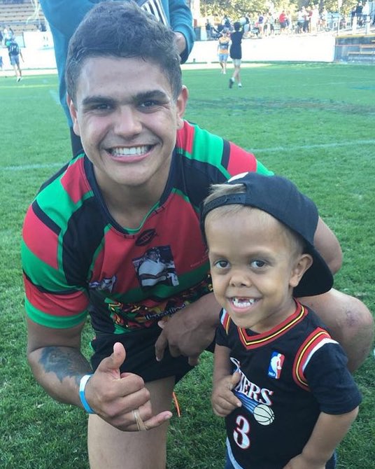
[[[226,469],[334,468],[360,393],[341,346],[295,299],[332,287],[315,204],[287,179],[246,173],[213,186],[201,223],[222,306],[212,404]]]

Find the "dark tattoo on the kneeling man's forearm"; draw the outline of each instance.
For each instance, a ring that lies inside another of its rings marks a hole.
[[[44,347],[39,363],[46,373],[55,373],[60,382],[66,377],[75,377],[79,383],[80,376],[90,370],[82,353],[69,347]]]

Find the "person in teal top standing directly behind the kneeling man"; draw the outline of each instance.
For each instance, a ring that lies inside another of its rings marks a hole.
[[[68,120],[73,156],[83,151],[80,138],[73,131],[73,122],[66,104],[65,61],[69,39],[85,14],[103,0],[41,0],[45,19],[52,33],[57,72],[59,98]],[[139,0],[139,5],[155,15],[164,25],[170,25],[175,33],[181,62],[184,63],[194,44],[192,13],[185,0]]]

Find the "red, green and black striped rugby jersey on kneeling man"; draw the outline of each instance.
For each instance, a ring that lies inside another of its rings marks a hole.
[[[211,183],[246,171],[271,174],[251,153],[185,122],[160,201],[127,230],[106,208],[90,160],[78,155],[42,186],[24,220],[29,318],[70,328],[90,313],[97,332],[131,332],[211,291],[199,204]]]

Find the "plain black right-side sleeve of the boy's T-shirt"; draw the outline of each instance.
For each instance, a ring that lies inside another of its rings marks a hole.
[[[348,359],[337,342],[327,342],[311,356],[304,370],[306,381],[326,414],[345,414],[357,407],[362,398],[346,367]]]

